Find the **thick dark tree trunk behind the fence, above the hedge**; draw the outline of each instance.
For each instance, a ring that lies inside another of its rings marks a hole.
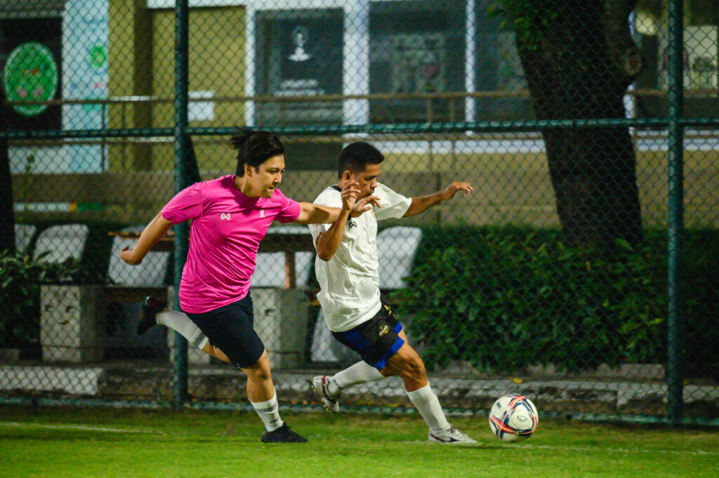
[[[623,95],[643,63],[628,35],[633,4],[554,4],[559,14],[541,42],[517,37],[537,119],[623,118]],[[542,135],[567,241],[602,247],[612,247],[615,239],[641,242],[636,157],[628,129],[544,129]]]

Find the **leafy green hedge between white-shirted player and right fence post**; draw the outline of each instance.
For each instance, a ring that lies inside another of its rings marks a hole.
[[[661,239],[612,254],[565,247],[559,231],[426,229],[398,311],[428,367],[487,372],[554,364],[664,362]],[[666,237],[666,236],[664,236]]]

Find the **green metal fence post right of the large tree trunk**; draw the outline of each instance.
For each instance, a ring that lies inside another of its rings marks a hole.
[[[684,229],[684,101],[682,0],[669,1],[669,257],[667,415],[672,426],[682,420],[682,234]]]

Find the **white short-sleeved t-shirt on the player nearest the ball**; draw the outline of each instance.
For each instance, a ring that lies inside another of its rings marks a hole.
[[[372,196],[380,198],[380,208],[372,208],[362,216],[350,217],[344,226],[339,248],[329,261],[317,257],[315,272],[320,292],[317,294],[324,320],[333,332],[347,331],[368,321],[382,306],[380,275],[377,272],[377,221],[404,216],[412,203],[385,185],[377,184]],[[342,194],[331,186],[313,201],[322,206],[342,207]],[[310,224],[317,247],[317,238],[331,224]]]

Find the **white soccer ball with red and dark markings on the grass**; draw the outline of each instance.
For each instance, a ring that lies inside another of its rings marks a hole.
[[[502,441],[526,440],[536,430],[538,421],[534,404],[516,393],[499,397],[490,410],[490,428]]]

